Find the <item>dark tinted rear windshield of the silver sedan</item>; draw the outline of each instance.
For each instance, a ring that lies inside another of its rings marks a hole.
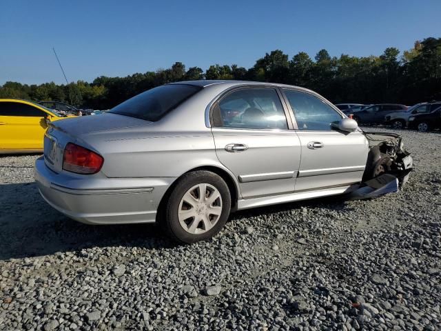
[[[120,103],[110,112],[154,122],[199,90],[198,86],[185,84],[158,86]]]

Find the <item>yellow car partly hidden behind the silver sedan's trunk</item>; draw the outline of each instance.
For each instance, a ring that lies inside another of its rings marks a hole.
[[[65,118],[38,103],[0,99],[0,154],[42,152],[48,121]]]

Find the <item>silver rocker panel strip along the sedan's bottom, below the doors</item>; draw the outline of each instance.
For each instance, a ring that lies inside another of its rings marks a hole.
[[[238,210],[261,207],[263,205],[276,205],[277,203],[285,203],[298,200],[307,200],[318,197],[326,197],[328,195],[342,194],[355,190],[358,184],[345,185],[338,188],[327,188],[322,190],[312,190],[303,192],[294,192],[289,194],[280,194],[271,197],[260,197],[254,199],[240,199],[238,201]]]

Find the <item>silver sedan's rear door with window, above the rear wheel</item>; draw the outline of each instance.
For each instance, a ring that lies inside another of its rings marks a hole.
[[[212,106],[216,155],[243,199],[294,192],[300,140],[287,114],[276,88],[238,88]]]

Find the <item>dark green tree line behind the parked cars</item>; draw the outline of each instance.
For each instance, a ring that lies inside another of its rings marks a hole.
[[[441,99],[441,38],[416,41],[400,56],[397,48],[386,48],[380,56],[331,57],[320,50],[314,59],[298,52],[291,59],[274,50],[246,69],[235,64],[210,66],[205,72],[176,62],[172,68],[136,73],[127,77],[97,77],[88,83],[27,85],[8,81],[0,87],[0,98],[32,101],[66,101],[74,106],[109,109],[155,86],[174,81],[236,79],[268,81],[302,86],[334,103],[404,103]]]

